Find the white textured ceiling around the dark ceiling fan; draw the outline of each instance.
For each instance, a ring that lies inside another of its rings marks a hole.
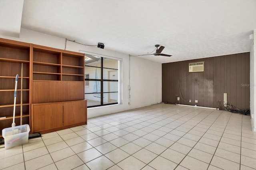
[[[256,0],[24,0],[21,27],[160,63],[250,51]]]

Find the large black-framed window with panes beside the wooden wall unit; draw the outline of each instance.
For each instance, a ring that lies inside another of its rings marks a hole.
[[[85,55],[85,99],[87,107],[118,104],[120,61]]]

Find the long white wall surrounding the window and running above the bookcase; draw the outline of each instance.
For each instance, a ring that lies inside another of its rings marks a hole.
[[[31,31],[28,29],[21,29],[20,38],[8,37],[0,35],[1,38],[12,39],[16,41],[23,41],[27,43],[33,43],[38,45],[44,45],[47,47],[53,47],[58,49],[65,49],[64,38]],[[108,50],[105,44],[105,49],[97,47],[84,46],[72,41],[67,41],[66,50],[81,52],[87,54],[99,54],[105,57],[109,56],[112,59],[122,60],[122,79],[121,90],[122,104],[116,104],[112,106],[101,106],[88,108],[88,118],[108,113],[115,113],[119,111],[125,111],[128,109],[134,109],[138,107],[148,106],[151,104],[160,103],[162,100],[162,64],[155,63],[153,61],[141,59],[138,57],[130,57],[117,53],[115,51]],[[107,57],[108,58],[108,57]],[[129,63],[130,63],[130,96],[128,99],[128,85],[129,85]],[[130,105],[128,104],[130,102]]]

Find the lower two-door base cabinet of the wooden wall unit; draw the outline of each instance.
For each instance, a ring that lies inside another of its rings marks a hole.
[[[87,124],[86,100],[32,104],[32,133],[49,133],[83,124]]]

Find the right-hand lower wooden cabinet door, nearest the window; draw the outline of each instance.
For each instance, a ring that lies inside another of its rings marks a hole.
[[[64,125],[87,121],[86,100],[63,103]]]

